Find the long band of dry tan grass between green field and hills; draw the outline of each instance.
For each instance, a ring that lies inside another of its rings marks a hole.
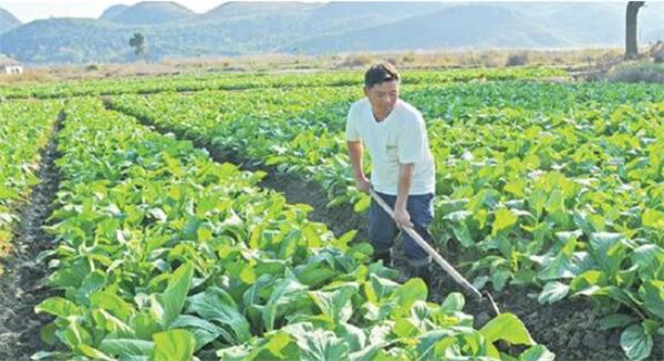
[[[27,66],[22,75],[0,75],[0,86],[61,80],[154,76],[216,72],[297,72],[363,69],[388,60],[403,69],[502,68],[508,65],[560,66],[570,70],[601,68],[622,59],[622,49],[486,50],[357,52],[308,56],[263,54],[206,59],[165,59],[158,63],[87,64],[81,66]]]

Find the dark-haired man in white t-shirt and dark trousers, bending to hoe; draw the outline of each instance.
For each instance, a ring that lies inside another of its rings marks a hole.
[[[396,69],[386,62],[373,64],[364,74],[366,97],[351,105],[346,121],[357,189],[369,192],[373,187],[394,209],[394,219],[374,200],[369,210],[374,260],[381,259],[386,266],[392,266],[392,245],[398,229],[413,227],[426,236],[434,214],[435,169],[424,118],[398,99],[398,91]],[[371,182],[362,164],[365,147],[373,164]],[[406,233],[403,237],[409,276],[428,283],[430,256]]]

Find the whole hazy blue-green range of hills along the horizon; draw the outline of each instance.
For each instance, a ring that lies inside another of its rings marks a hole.
[[[100,19],[53,18],[0,34],[0,53],[27,63],[135,60],[141,31],[148,58],[271,52],[331,54],[414,49],[623,47],[624,3],[599,2],[226,2],[196,14],[175,2],[114,6]],[[664,3],[639,16],[641,42],[664,35]]]

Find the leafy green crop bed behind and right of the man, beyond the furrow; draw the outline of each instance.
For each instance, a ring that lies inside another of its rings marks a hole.
[[[113,106],[313,177],[331,206],[362,210],[369,199],[352,188],[342,132],[357,94],[125,95]],[[475,255],[475,283],[538,285],[542,303],[590,297],[604,328],[624,329],[626,355],[647,357],[664,333],[664,90],[500,82],[417,85],[403,96],[428,121],[436,238]]]

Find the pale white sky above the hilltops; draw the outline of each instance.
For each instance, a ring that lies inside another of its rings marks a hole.
[[[0,8],[3,8],[11,12],[14,17],[19,18],[21,22],[30,22],[37,19],[48,19],[50,17],[63,18],[98,18],[104,10],[114,4],[134,4],[141,0],[95,0],[95,1],[12,1],[12,0],[0,0]],[[304,2],[312,2],[313,0],[299,0]],[[365,0],[366,1],[366,0]],[[403,1],[403,0],[402,0]],[[459,1],[459,0],[457,0]],[[463,0],[461,0],[463,1]],[[502,0],[505,1],[505,0]],[[508,0],[509,1],[509,0]],[[579,1],[579,0],[575,0]],[[662,2],[664,0],[657,0],[652,2]],[[206,12],[212,8],[224,3],[224,0],[188,0],[188,1],[176,1],[183,6],[191,9],[195,12]],[[324,2],[324,1],[319,1]],[[464,1],[466,2],[466,1]],[[625,2],[625,1],[619,1]]]

